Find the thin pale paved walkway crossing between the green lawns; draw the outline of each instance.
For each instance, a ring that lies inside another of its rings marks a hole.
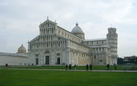
[[[0,68],[7,70],[52,70],[52,71],[66,71],[65,69],[27,69],[27,68]],[[87,71],[87,70],[67,70],[67,71]],[[137,72],[137,70],[92,70],[87,72]]]

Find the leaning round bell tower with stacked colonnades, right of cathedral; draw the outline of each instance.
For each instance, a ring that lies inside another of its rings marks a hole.
[[[111,51],[111,64],[117,64],[117,57],[118,57],[117,39],[118,39],[118,34],[116,33],[116,28],[114,27],[108,28],[107,40]]]

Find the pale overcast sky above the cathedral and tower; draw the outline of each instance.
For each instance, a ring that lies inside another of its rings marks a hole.
[[[137,0],[0,0],[0,52],[27,48],[47,16],[68,31],[78,22],[86,39],[115,27],[119,57],[137,55]]]

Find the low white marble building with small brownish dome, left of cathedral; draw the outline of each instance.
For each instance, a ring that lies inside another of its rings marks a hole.
[[[28,56],[26,49],[21,45],[17,53],[0,52],[0,65],[28,65]]]

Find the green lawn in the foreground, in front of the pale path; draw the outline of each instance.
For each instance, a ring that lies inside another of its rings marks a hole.
[[[137,73],[1,69],[0,86],[137,86]]]

